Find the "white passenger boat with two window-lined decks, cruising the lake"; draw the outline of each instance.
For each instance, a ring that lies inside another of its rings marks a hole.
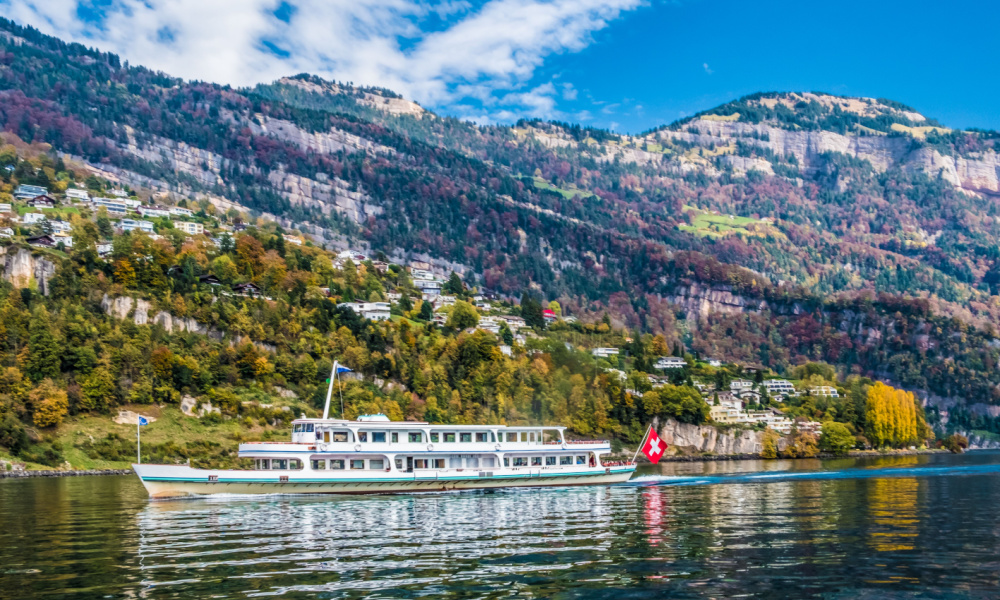
[[[564,427],[431,425],[384,415],[298,419],[291,442],[240,444],[254,469],[133,465],[150,496],[393,493],[627,481],[607,441],[571,441]]]

